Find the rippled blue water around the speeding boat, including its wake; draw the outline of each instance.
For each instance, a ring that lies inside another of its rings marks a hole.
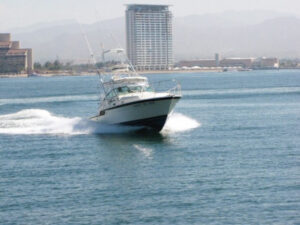
[[[300,70],[148,77],[159,134],[90,122],[96,76],[0,79],[0,224],[300,223]]]

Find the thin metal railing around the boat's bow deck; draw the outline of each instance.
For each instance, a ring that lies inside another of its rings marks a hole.
[[[175,79],[149,82],[156,93],[169,93],[169,95],[181,96],[181,85]]]

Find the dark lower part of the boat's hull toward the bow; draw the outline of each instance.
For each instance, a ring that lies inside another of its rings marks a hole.
[[[121,123],[121,125],[150,127],[159,132],[164,127],[167,118],[168,115],[156,116],[156,117],[151,117],[151,118],[146,118],[141,120],[128,121],[125,123]]]

